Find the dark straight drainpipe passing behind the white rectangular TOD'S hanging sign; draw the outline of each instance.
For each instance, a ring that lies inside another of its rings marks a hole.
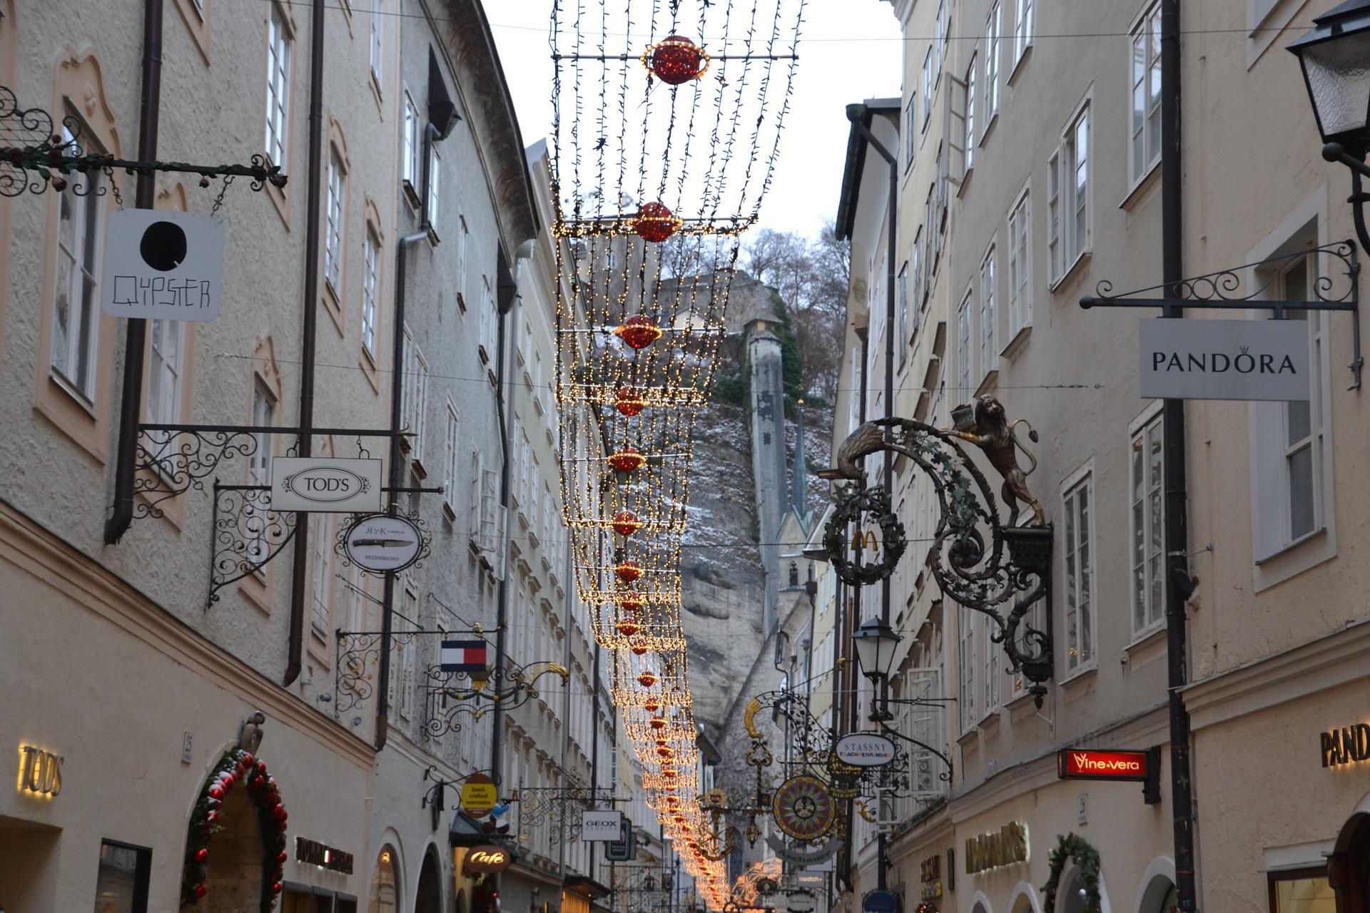
[[[315,330],[319,316],[319,209],[323,193],[323,0],[314,0],[310,25],[310,175],[304,209],[304,327],[300,346],[300,427],[314,427]],[[311,456],[314,438],[300,435],[300,456]],[[310,578],[310,515],[295,515],[290,568],[290,649],[282,686],[300,678],[304,653],[304,584]]]

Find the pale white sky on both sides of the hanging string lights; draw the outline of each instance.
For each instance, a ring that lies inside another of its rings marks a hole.
[[[552,0],[488,0],[523,141],[551,133]],[[900,93],[899,23],[886,0],[808,0],[792,110],[760,226],[817,237],[837,215],[847,104]]]

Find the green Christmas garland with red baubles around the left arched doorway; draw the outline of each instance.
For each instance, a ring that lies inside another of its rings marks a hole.
[[[248,798],[256,808],[258,827],[262,830],[262,913],[275,909],[285,875],[285,806],[275,777],[267,775],[266,761],[258,761],[242,749],[230,749],[219,758],[204,780],[200,798],[190,812],[190,828],[185,842],[185,869],[181,876],[181,905],[193,906],[208,892],[206,879],[210,872],[210,839],[223,831],[219,806],[238,784],[245,784]]]

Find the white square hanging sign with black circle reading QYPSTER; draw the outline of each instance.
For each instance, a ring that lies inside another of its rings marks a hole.
[[[203,212],[110,214],[100,304],[115,318],[214,320],[223,293],[223,219]]]

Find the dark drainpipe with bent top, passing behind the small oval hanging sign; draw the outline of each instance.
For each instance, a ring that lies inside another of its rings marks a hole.
[[[322,0],[319,0],[322,3]],[[388,485],[390,490],[390,513],[400,509],[400,493],[393,489],[400,487],[404,480],[404,454],[400,452],[400,422],[404,411],[404,294],[407,281],[407,267],[410,261],[410,248],[432,237],[429,234],[429,164],[433,156],[429,151],[434,142],[445,140],[452,127],[456,126],[453,118],[438,130],[432,123],[423,127],[423,193],[419,204],[419,230],[400,238],[395,249],[395,327],[390,331],[390,453]],[[390,728],[390,628],[395,615],[395,575],[385,575],[385,591],[381,597],[381,671],[375,690],[375,750],[385,747]]]

